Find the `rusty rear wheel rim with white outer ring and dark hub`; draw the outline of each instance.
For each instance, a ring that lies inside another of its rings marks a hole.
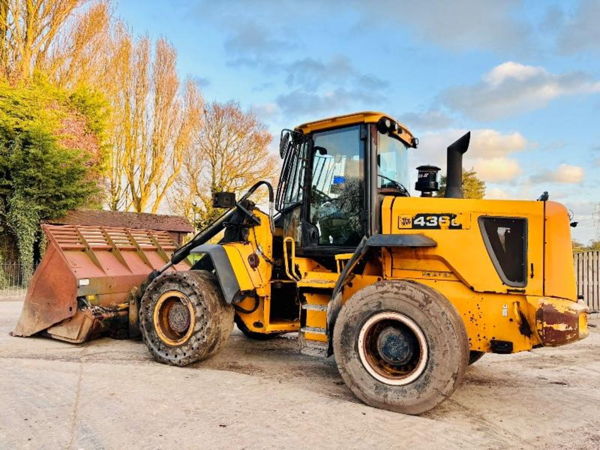
[[[382,311],[362,325],[358,355],[376,380],[392,386],[407,385],[425,370],[427,339],[409,317],[395,311]]]

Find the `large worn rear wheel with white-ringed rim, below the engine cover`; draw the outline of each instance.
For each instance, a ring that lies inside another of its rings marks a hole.
[[[333,330],[335,361],[370,406],[421,414],[463,379],[469,340],[454,306],[430,287],[379,281],[348,299]]]

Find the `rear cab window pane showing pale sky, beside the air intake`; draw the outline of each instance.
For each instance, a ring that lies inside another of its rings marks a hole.
[[[377,136],[377,187],[404,188],[410,185],[408,146],[401,140],[378,133]]]

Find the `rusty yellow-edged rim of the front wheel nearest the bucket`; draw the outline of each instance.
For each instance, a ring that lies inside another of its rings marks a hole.
[[[165,344],[175,347],[185,343],[195,322],[194,307],[183,293],[170,290],[158,298],[154,307],[154,329]]]

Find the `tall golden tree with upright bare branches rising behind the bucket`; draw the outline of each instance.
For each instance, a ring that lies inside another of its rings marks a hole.
[[[115,92],[110,207],[158,211],[181,172],[202,122],[202,95],[191,80],[180,89],[176,52],[159,39],[121,30],[112,61]]]

